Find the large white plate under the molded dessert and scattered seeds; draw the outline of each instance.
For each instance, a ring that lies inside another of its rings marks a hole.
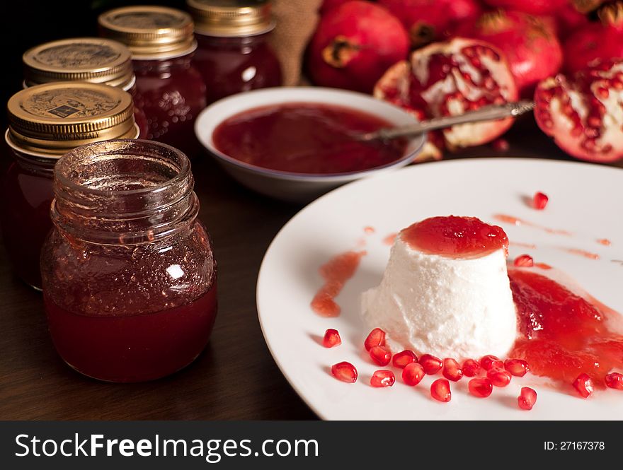
[[[549,195],[544,211],[525,201],[537,191]],[[439,215],[476,216],[496,223],[493,214],[508,213],[549,228],[568,230],[572,237],[527,226],[500,225],[511,242],[537,249],[510,247],[510,257],[529,252],[537,262],[551,264],[575,278],[595,298],[623,312],[623,172],[583,163],[527,159],[470,159],[415,165],[388,175],[348,184],[316,200],[285,225],[266,252],[257,290],[263,334],[283,375],[311,409],[324,419],[620,419],[623,392],[607,390],[590,399],[548,389],[527,375],[488,399],[467,394],[467,380],[452,384],[452,401],[442,404],[429,396],[430,377],[407,387],[396,377],[394,387],[370,387],[379,367],[362,348],[368,331],[359,317],[359,297],[376,286],[389,247],[383,237],[423,218]],[[375,233],[366,235],[371,226]],[[612,245],[596,240],[607,238]],[[321,286],[321,264],[333,255],[361,249],[355,276],[337,302],[342,314],[323,318],[309,302]],[[561,250],[585,249],[600,254],[588,259]],[[327,328],[340,331],[342,344],[327,349],[319,339]],[[359,371],[355,384],[339,382],[329,368],[342,360]],[[534,385],[532,411],[517,406],[520,387]],[[536,384],[536,385],[535,385]]]

